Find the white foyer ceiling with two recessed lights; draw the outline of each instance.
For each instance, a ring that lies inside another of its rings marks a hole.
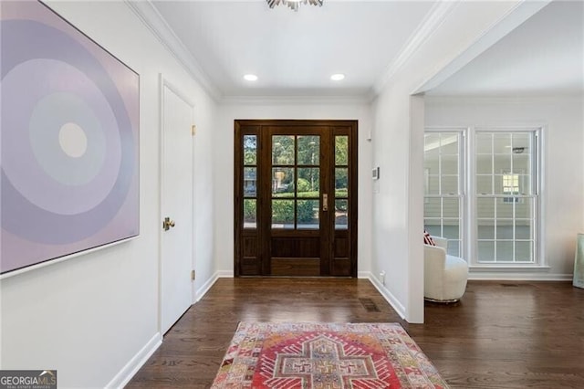
[[[152,2],[223,96],[367,95],[434,3],[325,0],[294,12],[266,0]]]

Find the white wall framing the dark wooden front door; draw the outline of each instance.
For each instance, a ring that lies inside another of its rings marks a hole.
[[[368,103],[356,100],[290,99],[246,103],[225,103],[220,106],[214,136],[215,247],[217,268],[224,275],[234,274],[234,133],[236,119],[331,119],[359,121],[359,225],[358,271],[370,270],[371,220],[371,144],[367,141],[371,129]]]

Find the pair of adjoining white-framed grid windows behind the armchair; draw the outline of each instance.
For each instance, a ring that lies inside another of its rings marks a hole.
[[[449,254],[474,266],[537,264],[538,140],[539,129],[426,130],[424,226],[449,239]]]

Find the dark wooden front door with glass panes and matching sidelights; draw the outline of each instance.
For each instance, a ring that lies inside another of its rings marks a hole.
[[[235,121],[235,276],[357,277],[357,121]]]

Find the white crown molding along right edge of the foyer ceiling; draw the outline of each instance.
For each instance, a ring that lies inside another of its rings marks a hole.
[[[442,25],[446,16],[452,12],[456,5],[458,5],[457,1],[438,1],[433,5],[420,26],[416,28],[407,43],[401,48],[398,56],[383,72],[381,79],[373,85],[373,94],[377,95],[381,92],[393,76],[405,66],[408,59],[412,58],[412,55],[423,46],[428,38],[433,36],[436,28]]]

